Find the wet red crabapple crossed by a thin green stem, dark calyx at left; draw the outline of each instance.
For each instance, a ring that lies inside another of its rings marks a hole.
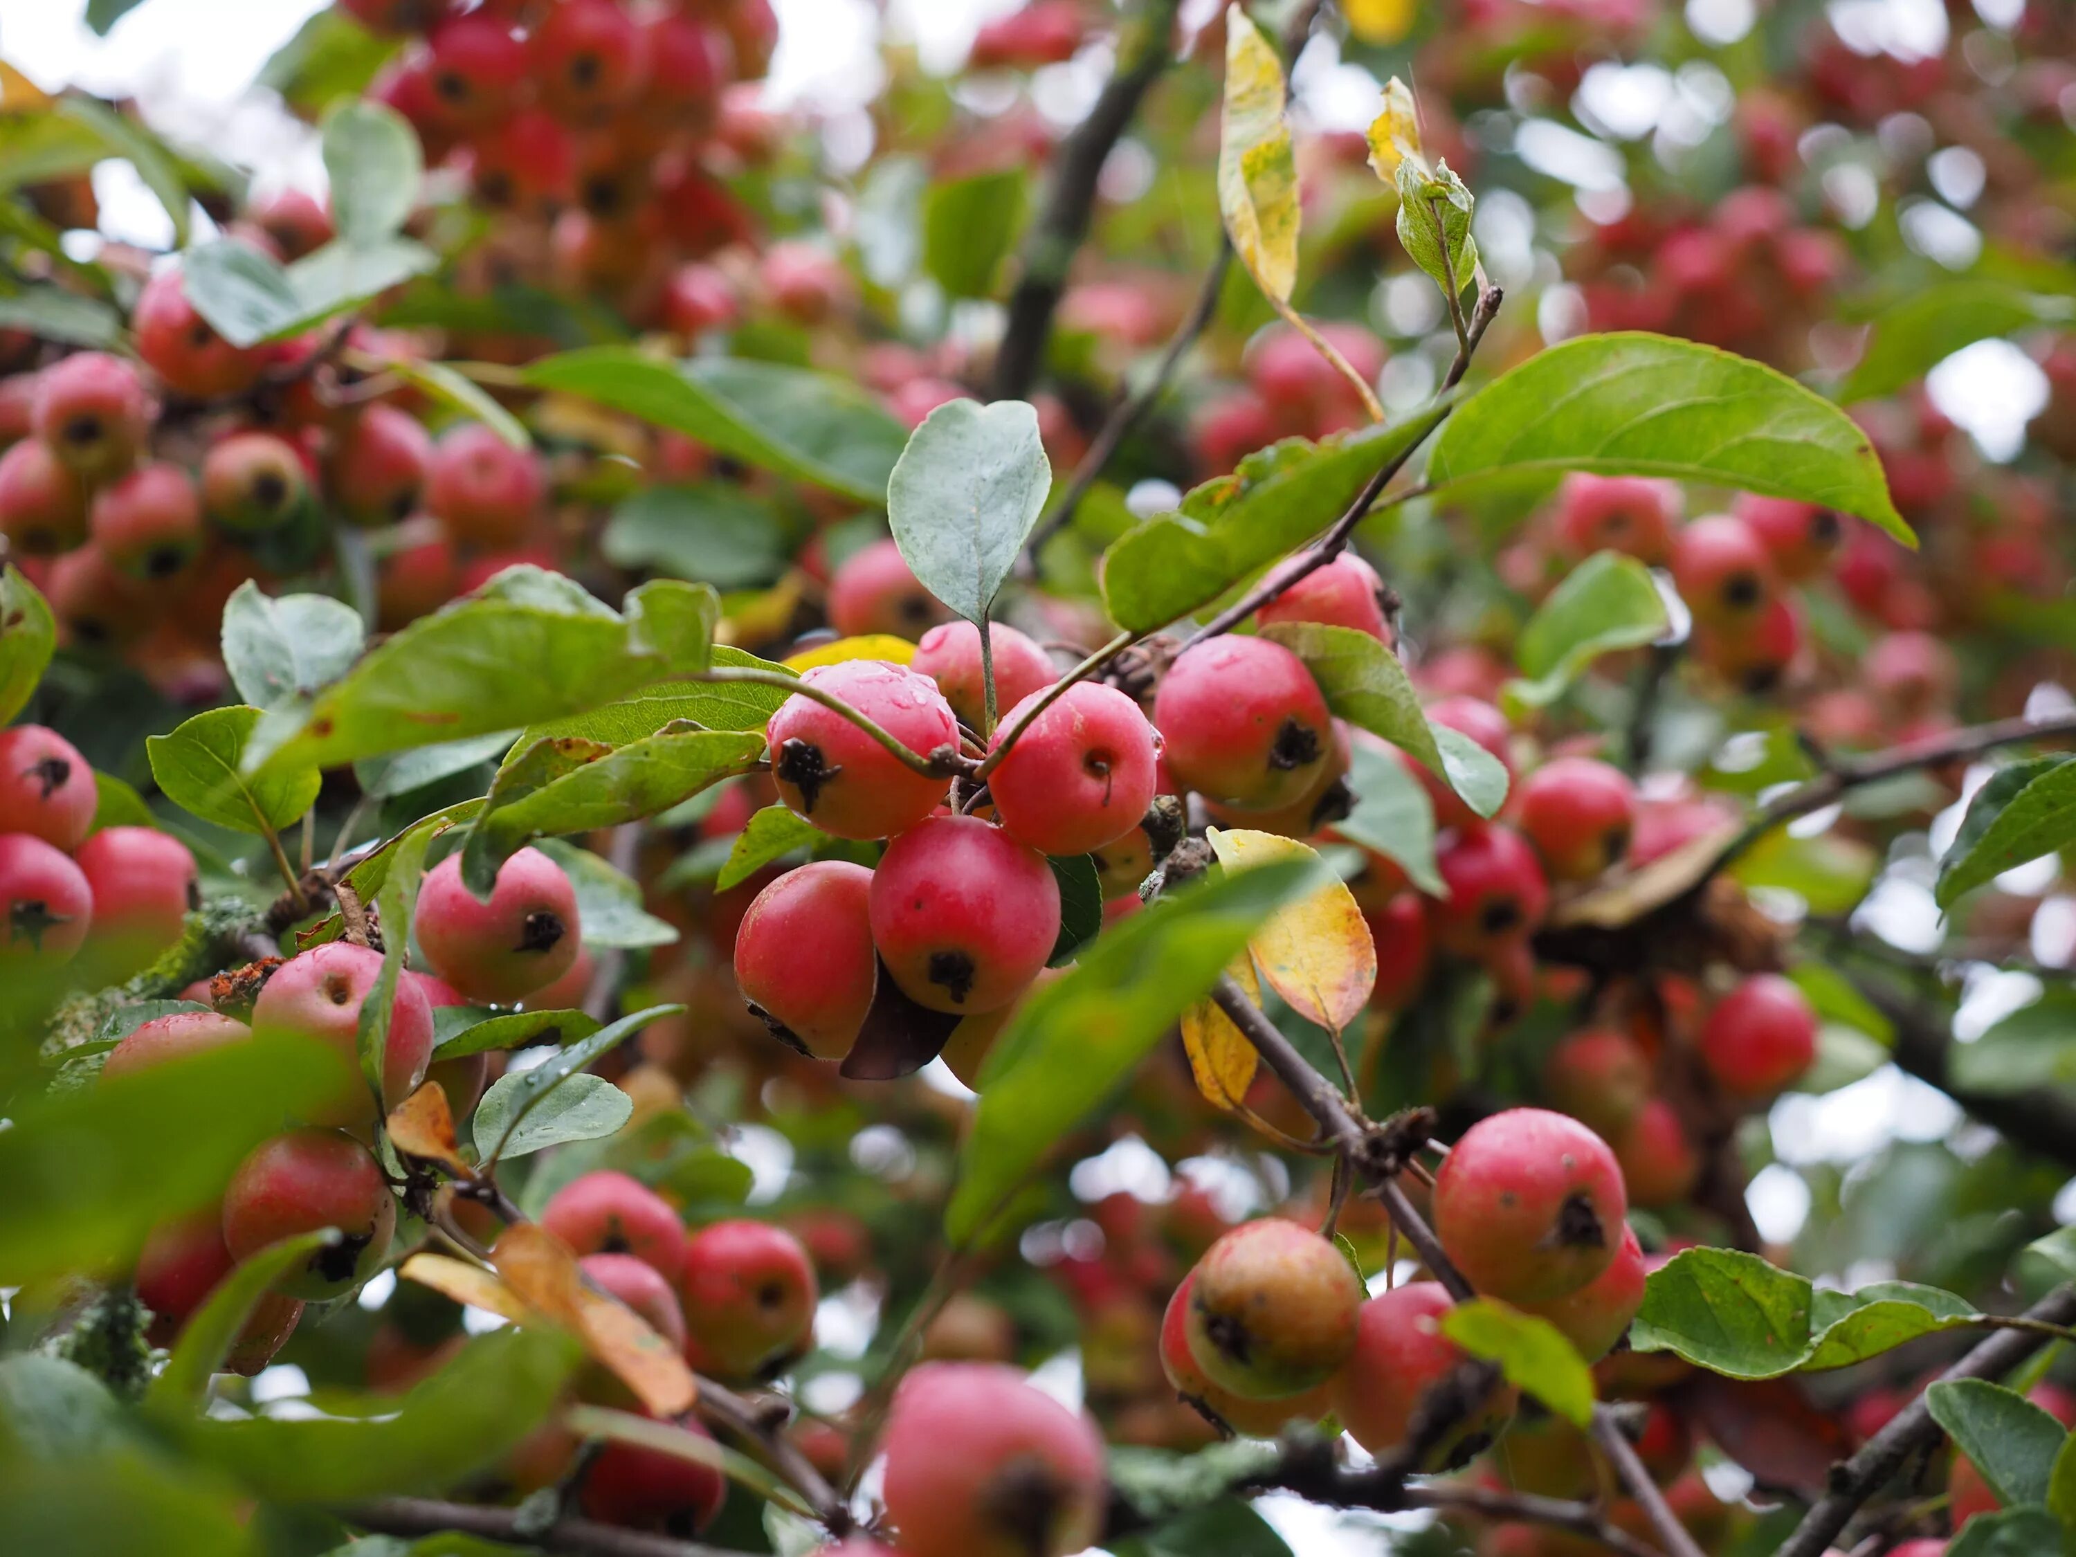
[[[930,677],[886,660],[818,664],[801,681],[841,698],[918,756],[957,747],[959,725]],[[778,799],[839,839],[884,839],[945,799],[945,781],[916,772],[843,714],[799,693],[766,725]]]

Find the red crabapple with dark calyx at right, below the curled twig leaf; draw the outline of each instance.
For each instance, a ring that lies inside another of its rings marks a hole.
[[[1175,656],[1154,725],[1175,781],[1227,805],[1289,805],[1333,758],[1318,683],[1266,637],[1214,637]]]

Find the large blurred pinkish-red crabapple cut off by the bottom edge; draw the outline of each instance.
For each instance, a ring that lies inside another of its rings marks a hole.
[[[1015,1368],[911,1368],[882,1449],[909,1557],[1065,1557],[1102,1528],[1102,1437]]]

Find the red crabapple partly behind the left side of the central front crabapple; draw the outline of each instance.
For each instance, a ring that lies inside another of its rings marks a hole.
[[[814,859],[758,893],[735,932],[743,999],[816,1059],[851,1053],[872,1007],[878,955],[870,893],[864,866]]]

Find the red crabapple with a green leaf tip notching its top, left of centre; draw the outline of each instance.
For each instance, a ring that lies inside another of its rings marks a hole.
[[[484,1005],[511,1005],[569,972],[583,945],[577,889],[540,849],[498,866],[490,901],[461,880],[461,855],[426,872],[411,930],[426,963]]]

